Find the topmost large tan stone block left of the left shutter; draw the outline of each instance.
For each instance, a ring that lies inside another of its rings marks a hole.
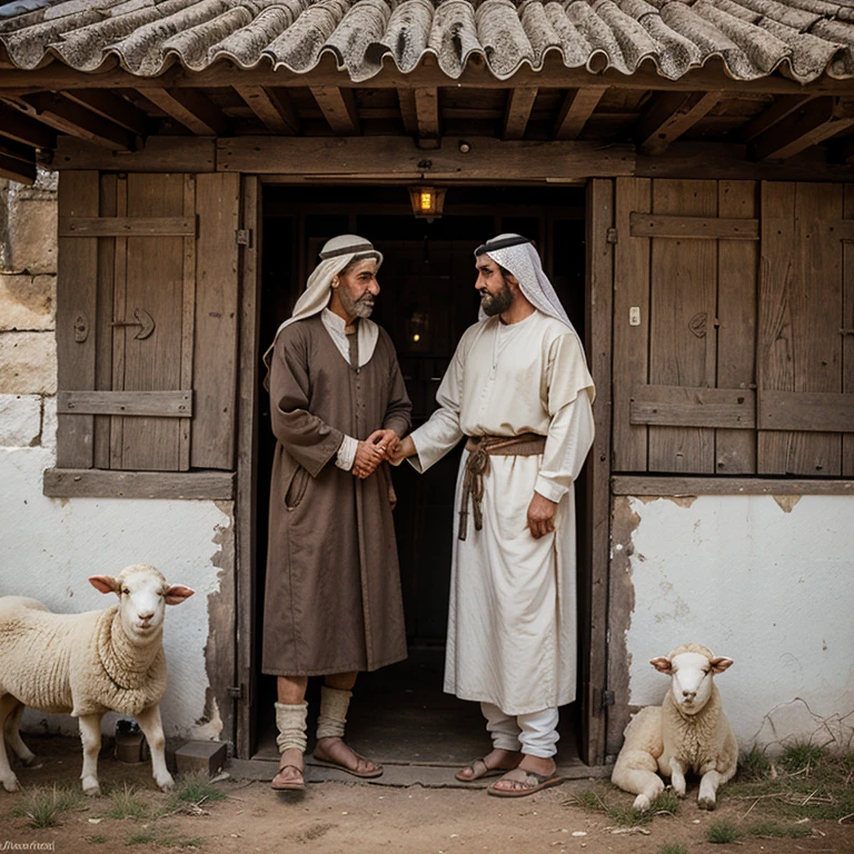
[[[7,272],[57,271],[57,202],[48,198],[10,199]]]

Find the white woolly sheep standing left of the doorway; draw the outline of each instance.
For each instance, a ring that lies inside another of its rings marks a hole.
[[[80,718],[83,792],[100,794],[98,753],[101,717],[119,712],[136,717],[151,748],[157,785],[173,785],[166,767],[160,701],[166,691],[163,612],[193,590],[169,586],[153,566],[137,564],[117,578],[93,575],[89,583],[115,593],[119,604],[86,614],[53,614],[22,596],[0,598],[0,782],[18,787],[6,743],[24,765],[36,758],[18,732],[24,706],[70,713]]]

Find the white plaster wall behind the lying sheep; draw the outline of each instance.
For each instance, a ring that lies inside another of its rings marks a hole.
[[[854,496],[630,499],[629,703],[658,704],[648,661],[696,640],[743,748],[852,745]],[[618,546],[620,547],[620,546]]]

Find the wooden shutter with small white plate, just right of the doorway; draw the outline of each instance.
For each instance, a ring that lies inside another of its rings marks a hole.
[[[755,471],[756,192],[617,179],[615,471]]]

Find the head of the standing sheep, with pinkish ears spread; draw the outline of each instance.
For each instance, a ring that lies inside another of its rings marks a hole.
[[[129,637],[148,638],[159,634],[167,605],[180,605],[195,590],[181,584],[168,585],[153,566],[135,564],[117,577],[93,575],[89,584],[101,593],[119,597],[121,624]]]

